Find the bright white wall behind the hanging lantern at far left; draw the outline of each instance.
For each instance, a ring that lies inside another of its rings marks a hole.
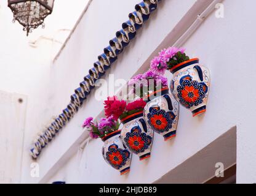
[[[13,13],[7,7],[7,1],[0,2],[0,91],[7,94],[0,97],[0,151],[2,160],[5,160],[0,164],[1,183],[20,182],[21,154],[26,154],[26,159],[31,162],[28,151],[33,138],[53,116],[48,110],[52,60],[87,2],[78,0],[72,7],[67,1],[55,2],[54,12],[45,20],[46,28],[40,26],[28,37],[22,31],[22,25],[17,21],[12,23]],[[66,15],[66,12],[71,15]],[[24,97],[27,99],[19,104],[17,100]],[[22,110],[18,105],[23,106]],[[25,121],[22,127],[17,124],[21,119]]]

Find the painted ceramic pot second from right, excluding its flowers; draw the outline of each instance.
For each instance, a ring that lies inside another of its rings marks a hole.
[[[159,95],[159,96],[158,96]],[[175,137],[178,124],[178,102],[163,88],[148,95],[144,108],[146,123],[164,137],[164,141]]]

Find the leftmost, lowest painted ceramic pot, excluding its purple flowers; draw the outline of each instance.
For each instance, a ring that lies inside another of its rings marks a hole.
[[[102,138],[102,155],[108,164],[124,175],[130,171],[132,153],[122,142],[120,133],[121,130],[116,130]]]

